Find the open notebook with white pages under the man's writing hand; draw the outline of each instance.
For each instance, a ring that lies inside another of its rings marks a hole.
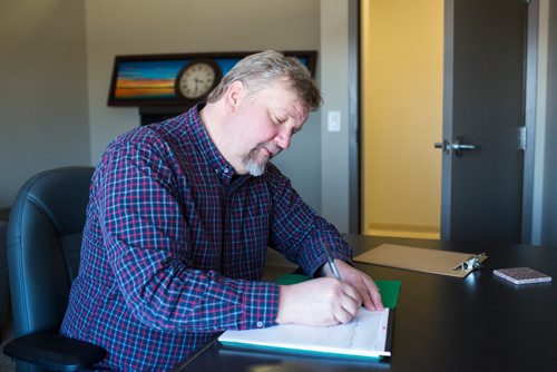
[[[391,355],[393,314],[387,307],[381,312],[362,307],[348,324],[323,327],[287,324],[226,331],[218,341],[225,345],[377,359]]]

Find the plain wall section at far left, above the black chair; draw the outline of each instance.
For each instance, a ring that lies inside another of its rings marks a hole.
[[[90,163],[84,7],[0,1],[0,208],[36,173]]]

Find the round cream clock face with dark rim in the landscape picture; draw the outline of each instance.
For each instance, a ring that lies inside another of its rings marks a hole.
[[[194,61],[178,74],[176,92],[188,100],[201,99],[211,92],[219,77],[216,63]]]

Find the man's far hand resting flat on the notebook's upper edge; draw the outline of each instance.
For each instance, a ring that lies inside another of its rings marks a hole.
[[[381,294],[373,280],[361,271],[346,264],[344,261],[335,260],[334,263],[339,268],[342,282],[350,284],[362,298],[363,305],[370,311],[383,310]],[[334,277],[329,265],[323,265],[323,274],[328,277]]]

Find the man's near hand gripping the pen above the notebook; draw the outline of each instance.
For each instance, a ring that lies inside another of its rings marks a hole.
[[[362,298],[350,284],[320,277],[281,286],[276,322],[313,326],[348,323],[361,306]]]

